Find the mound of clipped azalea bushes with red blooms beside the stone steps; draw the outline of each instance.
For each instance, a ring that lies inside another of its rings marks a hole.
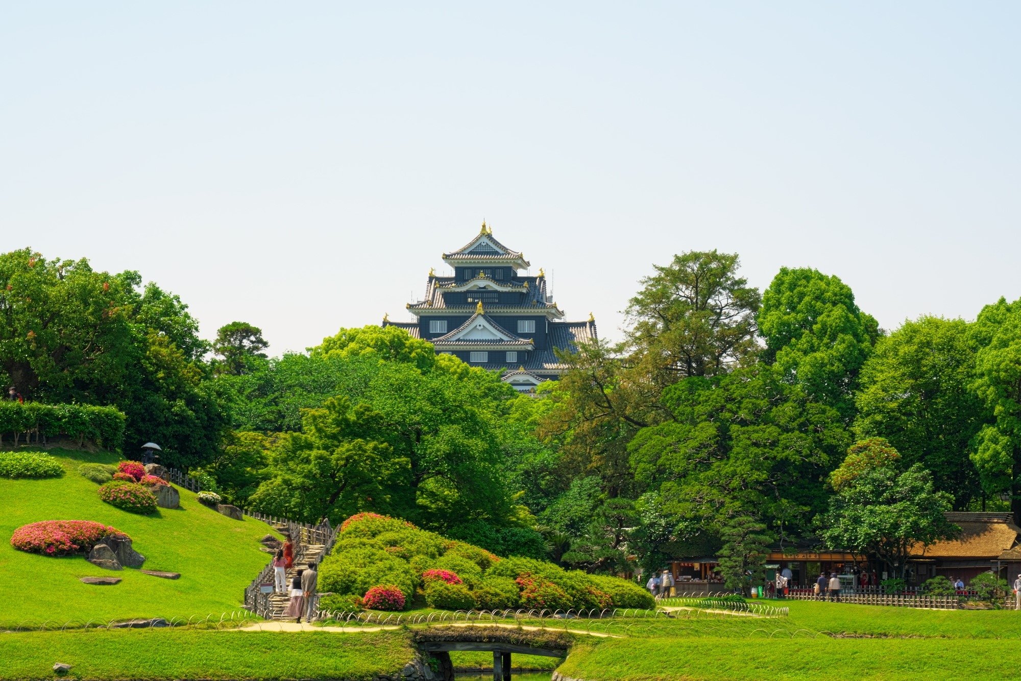
[[[626,580],[568,571],[534,558],[501,558],[473,544],[377,514],[358,514],[344,521],[333,552],[319,573],[321,590],[337,594],[324,599],[326,609],[349,604],[351,596],[362,597],[381,586],[399,589],[403,607],[418,594],[441,610],[655,606],[644,589]],[[377,598],[372,601],[379,603]],[[402,609],[397,599],[388,602],[388,609]]]

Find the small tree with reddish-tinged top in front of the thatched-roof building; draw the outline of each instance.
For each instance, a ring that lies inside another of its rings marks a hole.
[[[904,579],[910,555],[960,532],[943,516],[953,497],[934,489],[921,464],[898,473],[900,456],[885,441],[857,444],[830,478],[838,488],[819,534],[828,547],[874,555]]]

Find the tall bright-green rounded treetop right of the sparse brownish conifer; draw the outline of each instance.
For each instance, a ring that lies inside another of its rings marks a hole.
[[[758,322],[766,363],[849,424],[859,370],[880,335],[850,288],[818,270],[781,267],[763,294]]]

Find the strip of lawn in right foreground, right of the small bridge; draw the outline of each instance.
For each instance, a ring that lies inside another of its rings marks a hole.
[[[576,645],[560,672],[585,681],[1016,679],[1017,640],[624,638]]]

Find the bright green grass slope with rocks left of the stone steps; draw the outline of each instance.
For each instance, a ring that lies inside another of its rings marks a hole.
[[[159,508],[152,516],[131,514],[104,503],[98,485],[78,474],[87,461],[113,464],[118,456],[54,449],[65,468],[61,478],[0,479],[0,621],[67,621],[133,617],[217,617],[238,610],[244,588],[269,556],[258,539],[264,523],[231,520],[178,488],[181,508]],[[181,573],[179,580],[143,575],[138,570],[101,570],[83,556],[48,557],[10,545],[14,530],[45,520],[98,521],[127,532],[145,555],[145,570]],[[120,577],[114,586],[94,586],[79,577]]]

